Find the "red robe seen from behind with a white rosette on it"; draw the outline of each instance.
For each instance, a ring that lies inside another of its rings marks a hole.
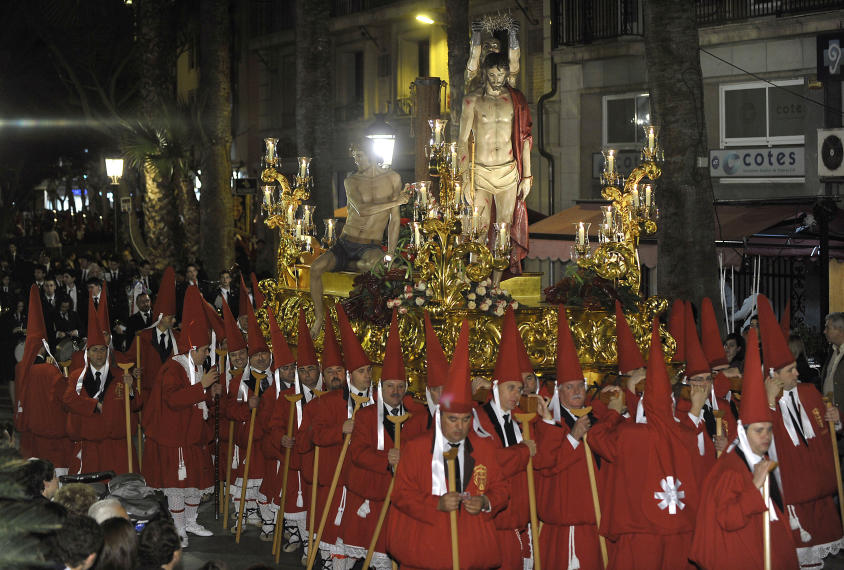
[[[606,474],[598,493],[604,506],[598,532],[614,542],[611,570],[691,568],[687,558],[699,492],[691,453],[697,453],[697,434],[680,423],[661,428],[653,418],[649,421],[637,424],[612,418],[589,431],[590,446],[607,461],[601,468]],[[666,450],[674,469],[668,474],[659,468]],[[680,482],[679,491],[685,494],[684,507],[676,505],[673,515],[654,497],[663,492],[668,475],[674,477],[675,486]]]

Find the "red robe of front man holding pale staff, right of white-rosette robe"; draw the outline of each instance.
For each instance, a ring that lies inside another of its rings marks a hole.
[[[771,478],[773,481],[773,478]],[[778,520],[771,524],[771,568],[798,568],[788,518],[774,503]],[[689,558],[701,568],[761,570],[762,514],[765,502],[737,448],[721,456],[703,483],[700,510]]]

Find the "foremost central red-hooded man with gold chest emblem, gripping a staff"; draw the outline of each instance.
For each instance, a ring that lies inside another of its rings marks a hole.
[[[394,508],[387,519],[387,550],[401,566],[452,567],[450,513],[438,508],[448,494],[443,453],[449,449],[457,450],[457,492],[467,494],[456,511],[459,567],[501,565],[492,518],[506,505],[509,485],[501,473],[494,444],[471,428],[474,402],[469,371],[469,325],[464,321],[433,432],[402,444],[401,467],[392,495]],[[455,425],[463,427],[454,429]],[[467,501],[471,501],[471,507]],[[469,512],[481,504],[486,508],[476,510],[476,514]]]

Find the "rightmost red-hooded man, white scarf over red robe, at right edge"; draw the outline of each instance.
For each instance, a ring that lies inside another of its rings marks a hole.
[[[773,420],[783,501],[800,565],[809,567],[844,547],[827,408],[814,386],[798,383],[794,356],[770,301],[759,295],[758,303],[765,374],[783,389]]]

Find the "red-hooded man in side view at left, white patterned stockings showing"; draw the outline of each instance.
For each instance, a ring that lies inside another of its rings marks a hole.
[[[203,492],[214,484],[209,442],[213,439],[209,410],[218,374],[203,362],[212,345],[211,325],[196,287],[185,293],[179,354],[161,367],[144,408],[143,474],[150,487],[164,491],[176,530],[187,546],[187,533],[210,536],[200,525],[197,509]]]

